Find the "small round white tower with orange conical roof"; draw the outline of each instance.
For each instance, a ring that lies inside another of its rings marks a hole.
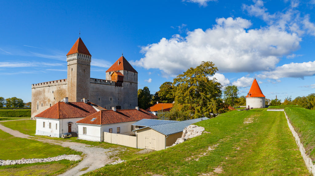
[[[249,89],[249,92],[246,96],[246,108],[263,108],[265,106],[265,98],[264,94],[262,93],[256,78],[253,81],[252,86]]]

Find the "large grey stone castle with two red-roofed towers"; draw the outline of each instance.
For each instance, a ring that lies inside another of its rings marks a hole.
[[[106,78],[90,78],[91,57],[79,37],[68,54],[67,79],[31,85],[31,118],[68,97],[69,102],[88,99],[106,109],[138,106],[138,72],[121,56],[107,71]]]

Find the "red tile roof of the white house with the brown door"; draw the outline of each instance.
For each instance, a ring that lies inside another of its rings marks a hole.
[[[52,107],[49,107],[45,111],[37,114],[35,117],[55,119],[84,118],[97,112],[92,105],[98,107],[99,109],[104,109],[91,102],[58,102]]]

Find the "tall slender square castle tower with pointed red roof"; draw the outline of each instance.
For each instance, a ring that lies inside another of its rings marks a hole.
[[[89,99],[91,54],[79,37],[67,54],[69,102]]]

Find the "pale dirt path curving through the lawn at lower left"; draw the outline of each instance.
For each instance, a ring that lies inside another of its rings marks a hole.
[[[77,143],[77,142],[65,142],[65,141],[57,141],[57,140],[44,139],[44,138],[40,139],[34,136],[20,133],[19,131],[7,128],[1,124],[0,124],[0,129],[15,137],[34,139],[34,140],[38,140],[38,141],[49,143],[49,144],[69,147],[73,150],[81,151],[83,152],[83,154],[85,154],[85,157],[83,158],[83,160],[76,167],[71,168],[70,170],[68,170],[67,172],[61,175],[65,175],[65,176],[82,175],[83,173],[87,173],[97,168],[101,168],[105,166],[106,164],[109,164],[114,161],[114,160],[109,159],[109,156],[115,153],[115,151],[111,151],[110,149],[104,149],[104,148],[90,146],[87,144],[82,144],[82,143]],[[84,171],[81,171],[81,169],[83,168],[87,168],[87,169]]]

